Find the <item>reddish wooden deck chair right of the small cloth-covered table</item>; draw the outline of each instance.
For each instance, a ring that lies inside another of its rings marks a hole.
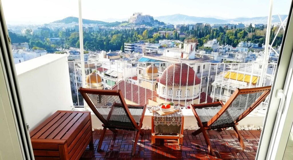
[[[202,133],[209,152],[214,154],[206,130],[217,129],[218,131],[223,131],[226,128],[233,127],[241,147],[245,149],[245,145],[236,125],[265,100],[270,94],[270,90],[271,86],[246,89],[237,88],[226,104],[220,101],[191,105],[197,124],[200,127],[192,134],[197,135]]]

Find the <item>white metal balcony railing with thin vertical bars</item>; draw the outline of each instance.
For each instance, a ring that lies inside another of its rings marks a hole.
[[[80,68],[79,65],[80,61],[69,61],[69,71],[71,71],[74,74],[74,77],[76,77],[77,70]],[[95,64],[95,67],[86,67],[89,64]],[[194,83],[193,86],[181,86],[181,82],[179,86],[174,85],[163,85],[160,83],[160,81],[156,81],[154,77],[156,77],[155,74],[145,76],[145,70],[147,68],[147,65],[144,65],[145,63],[148,63],[150,65],[156,65],[156,66],[163,66],[158,68],[158,75],[161,76],[163,73],[163,70],[170,65],[174,64],[173,62],[95,62],[95,61],[87,61],[85,65],[85,69],[89,70],[90,73],[97,70],[99,67],[105,68],[110,70],[109,76],[111,79],[113,79],[111,82],[111,85],[108,85],[105,83],[105,77],[106,75],[100,75],[102,78],[102,84],[104,85],[104,89],[112,89],[110,86],[115,85],[117,83],[124,83],[124,85],[118,85],[117,89],[121,89],[125,92],[124,95],[126,95],[127,91],[131,91],[131,95],[127,96],[127,100],[132,103],[136,104],[142,104],[142,103],[148,103],[149,105],[156,105],[157,103],[161,102],[174,102],[175,104],[180,105],[188,105],[190,103],[199,103],[198,99],[200,98],[200,102],[206,103],[206,102],[214,102],[217,100],[222,100],[226,102],[229,97],[231,96],[229,90],[235,90],[236,88],[252,88],[252,87],[259,87],[259,86],[269,86],[272,85],[275,73],[276,73],[276,64],[273,63],[185,63],[192,67],[195,71],[195,75],[199,78],[200,83]],[[182,62],[183,63],[183,62]],[[204,72],[202,72],[202,68],[205,65]],[[137,66],[137,67],[135,67]],[[200,72],[197,73],[197,68],[200,66]],[[189,76],[190,67],[187,71],[187,76]],[[268,68],[269,67],[269,68]],[[74,68],[74,69],[73,69]],[[263,69],[265,68],[265,69]],[[263,77],[260,77],[261,72],[263,70],[266,72]],[[115,71],[115,72],[113,72]],[[160,72],[161,71],[161,72]],[[252,75],[250,76],[250,81],[247,82],[247,79],[244,81],[235,80],[235,77],[224,77],[227,72],[234,72],[237,74],[237,77],[239,74],[245,75]],[[116,75],[111,75],[112,73],[115,73]],[[182,65],[180,68],[180,79],[182,79]],[[81,73],[78,72],[78,75]],[[100,74],[97,72],[97,74]],[[103,74],[103,72],[102,72]],[[166,75],[166,81],[168,81],[168,78],[171,77],[170,72],[167,72]],[[169,80],[169,82],[173,81],[174,84],[174,74],[173,73],[173,79]],[[140,76],[143,75],[143,76]],[[186,75],[186,74],[185,74]],[[85,75],[86,77],[87,75]],[[113,78],[117,77],[117,78]],[[137,76],[136,84],[133,84],[135,81],[132,80],[133,85],[126,85],[127,79],[130,77]],[[203,79],[207,76],[207,79]],[[254,84],[252,83],[252,77],[257,76],[259,77],[257,79],[257,82]],[[264,83],[260,84],[260,78],[264,79]],[[71,78],[72,79],[72,78]],[[154,80],[150,80],[154,79]],[[188,77],[187,77],[188,79]],[[74,81],[74,80],[73,80]],[[75,80],[76,81],[76,80]],[[147,83],[144,83],[147,82]],[[73,83],[74,84],[74,83]],[[85,83],[84,83],[85,84]],[[140,87],[137,87],[136,85],[139,85]],[[105,86],[108,86],[106,88]],[[126,88],[125,86],[130,86]],[[110,87],[110,88],[109,88]],[[124,87],[124,88],[121,88]],[[135,90],[134,90],[135,87]],[[194,88],[194,89],[192,89]],[[217,89],[217,91],[216,91]],[[81,95],[76,94],[78,93],[78,86],[71,84],[71,90],[72,90],[72,98],[74,103],[76,103],[77,107],[83,107],[83,99]],[[219,92],[219,90],[221,92]],[[222,93],[222,90],[226,90],[224,93],[227,94],[217,94]],[[204,93],[207,94],[204,94]],[[158,95],[157,95],[158,94]],[[203,96],[205,95],[205,96]],[[268,99],[268,98],[267,98]],[[268,105],[267,99],[265,102],[263,102],[262,106]],[[150,100],[150,101],[149,101]]]

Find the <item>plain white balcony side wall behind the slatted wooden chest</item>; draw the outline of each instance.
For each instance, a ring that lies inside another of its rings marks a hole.
[[[67,55],[47,54],[15,68],[30,131],[57,110],[71,110]]]

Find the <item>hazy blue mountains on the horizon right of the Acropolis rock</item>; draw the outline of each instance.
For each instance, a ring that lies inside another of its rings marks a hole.
[[[287,15],[280,15],[281,19],[284,20]],[[182,14],[174,14],[174,15],[165,15],[154,17],[155,19],[171,24],[190,24],[190,23],[244,23],[244,24],[255,24],[255,23],[263,23],[266,24],[268,21],[268,17],[252,17],[252,18],[234,18],[234,19],[217,19],[217,18],[206,18],[206,17],[195,17],[195,16],[188,16]],[[278,15],[272,16],[272,23],[280,22]]]

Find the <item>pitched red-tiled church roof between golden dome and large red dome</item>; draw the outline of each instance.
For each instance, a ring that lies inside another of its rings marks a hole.
[[[126,81],[118,82],[112,87],[112,90],[118,90],[118,87],[122,91],[122,95],[125,99],[129,101],[133,101],[134,103],[139,105],[149,104],[149,98],[151,98],[152,96],[158,96],[156,91],[151,91],[150,89],[146,89]],[[139,88],[139,92],[138,92],[138,88]],[[126,91],[126,96],[125,96],[125,91]],[[156,100],[156,99],[153,98],[153,100]]]

